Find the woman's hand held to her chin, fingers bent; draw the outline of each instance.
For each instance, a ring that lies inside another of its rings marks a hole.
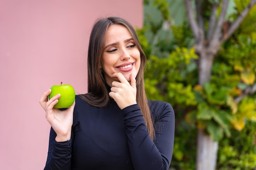
[[[130,74],[130,83],[126,80],[122,73],[114,73],[112,77],[117,77],[120,82],[113,81],[109,96],[113,98],[120,109],[124,109],[130,105],[137,104],[136,102],[136,79]]]

